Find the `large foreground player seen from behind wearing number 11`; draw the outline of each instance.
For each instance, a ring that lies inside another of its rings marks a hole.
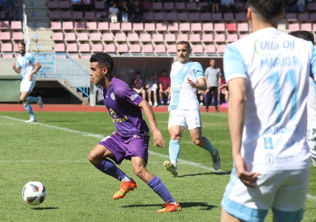
[[[250,0],[253,33],[228,45],[224,73],[234,167],[221,202],[221,222],[299,222],[309,181],[305,140],[310,41],[276,29],[284,0]]]

